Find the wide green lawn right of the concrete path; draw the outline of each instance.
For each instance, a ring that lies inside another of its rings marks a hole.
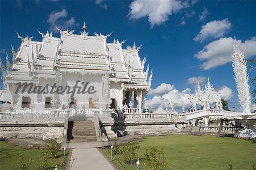
[[[146,137],[139,141],[139,145],[140,169],[150,169],[143,165],[143,153],[148,146],[164,148],[168,163],[166,169],[229,169],[229,164],[233,169],[249,169],[256,164],[256,143],[245,139],[168,135]],[[110,158],[110,149],[102,152]],[[119,169],[136,169],[136,165],[126,164],[122,155],[114,155],[113,160]]]

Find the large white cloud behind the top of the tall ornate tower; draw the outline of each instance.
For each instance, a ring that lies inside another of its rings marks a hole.
[[[201,65],[201,69],[210,70],[214,67],[225,65],[232,60],[232,52],[234,48],[235,40],[232,37],[221,38],[210,42],[205,45],[200,52],[195,54],[194,57],[204,61]],[[245,52],[246,58],[250,58],[256,55],[256,38],[252,37],[250,40],[242,42],[237,40],[238,48]]]

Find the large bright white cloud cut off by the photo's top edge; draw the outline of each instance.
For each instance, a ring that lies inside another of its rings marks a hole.
[[[136,20],[148,17],[151,28],[160,25],[168,20],[168,16],[180,11],[184,7],[189,7],[188,2],[179,0],[167,1],[142,1],[134,0],[130,4],[129,18]]]

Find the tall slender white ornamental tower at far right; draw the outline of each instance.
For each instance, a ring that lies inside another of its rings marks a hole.
[[[249,76],[247,74],[245,54],[237,48],[237,41],[235,42],[233,54],[232,54],[232,66],[234,71],[234,79],[236,80],[238,99],[240,100],[243,113],[250,112],[250,87]]]

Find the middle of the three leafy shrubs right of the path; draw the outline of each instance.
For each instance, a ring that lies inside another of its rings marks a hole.
[[[133,164],[137,160],[137,153],[139,150],[139,145],[136,142],[127,142],[122,147],[123,158],[127,163]]]

